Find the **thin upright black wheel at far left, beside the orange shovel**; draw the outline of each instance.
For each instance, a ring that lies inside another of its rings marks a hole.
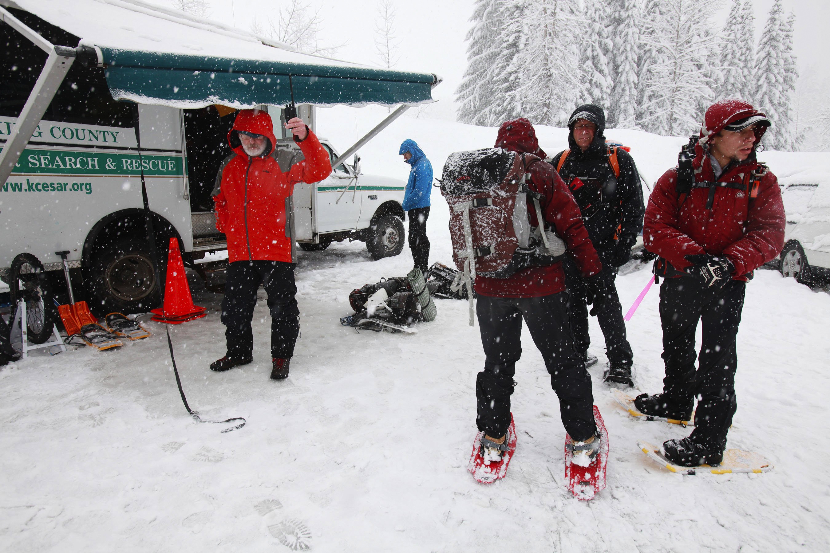
[[[12,260],[8,274],[12,318],[17,299],[26,303],[26,330],[29,342],[42,344],[49,339],[57,320],[57,309],[43,272],[43,264],[32,254],[23,253]],[[12,323],[10,321],[9,323]]]

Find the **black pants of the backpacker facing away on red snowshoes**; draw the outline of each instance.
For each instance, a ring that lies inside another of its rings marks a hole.
[[[542,352],[568,434],[582,441],[596,431],[591,376],[574,350],[567,302],[566,292],[541,298],[478,297],[476,312],[486,361],[484,371],[476,378],[476,424],[488,436],[500,438],[510,426],[510,395],[515,386],[515,363],[521,357],[522,318]]]

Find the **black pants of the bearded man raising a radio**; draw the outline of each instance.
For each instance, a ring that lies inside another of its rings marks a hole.
[[[225,325],[227,354],[247,357],[254,348],[251,318],[256,290],[264,284],[271,310],[271,357],[289,358],[300,332],[294,264],[282,261],[234,261],[227,266],[222,324]]]

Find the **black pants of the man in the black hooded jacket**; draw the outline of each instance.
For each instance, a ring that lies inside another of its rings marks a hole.
[[[613,254],[604,250],[598,251],[603,262],[600,278],[608,290],[608,298],[597,308],[597,321],[605,337],[605,353],[608,361],[630,368],[634,354],[625,329],[623,306],[617,294],[617,269],[611,265]],[[588,351],[591,337],[588,334],[588,306],[585,304],[585,280],[579,273],[574,260],[565,257],[562,264],[565,271],[565,286],[570,294],[569,314],[571,325],[574,328],[574,346],[577,352]]]

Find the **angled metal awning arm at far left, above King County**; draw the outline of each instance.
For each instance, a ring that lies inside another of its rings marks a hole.
[[[52,45],[2,7],[0,7],[0,19],[49,54],[46,58],[46,65],[43,65],[41,75],[37,78],[26,104],[23,105],[20,117],[17,118],[17,124],[12,128],[12,133],[9,134],[0,152],[0,184],[2,184],[12,174],[17,160],[23,153],[23,148],[26,148],[26,144],[32,138],[32,133],[37,130],[37,125],[41,123],[46,108],[51,104],[58,87],[61,86],[72,62],[75,61],[75,49]]]

